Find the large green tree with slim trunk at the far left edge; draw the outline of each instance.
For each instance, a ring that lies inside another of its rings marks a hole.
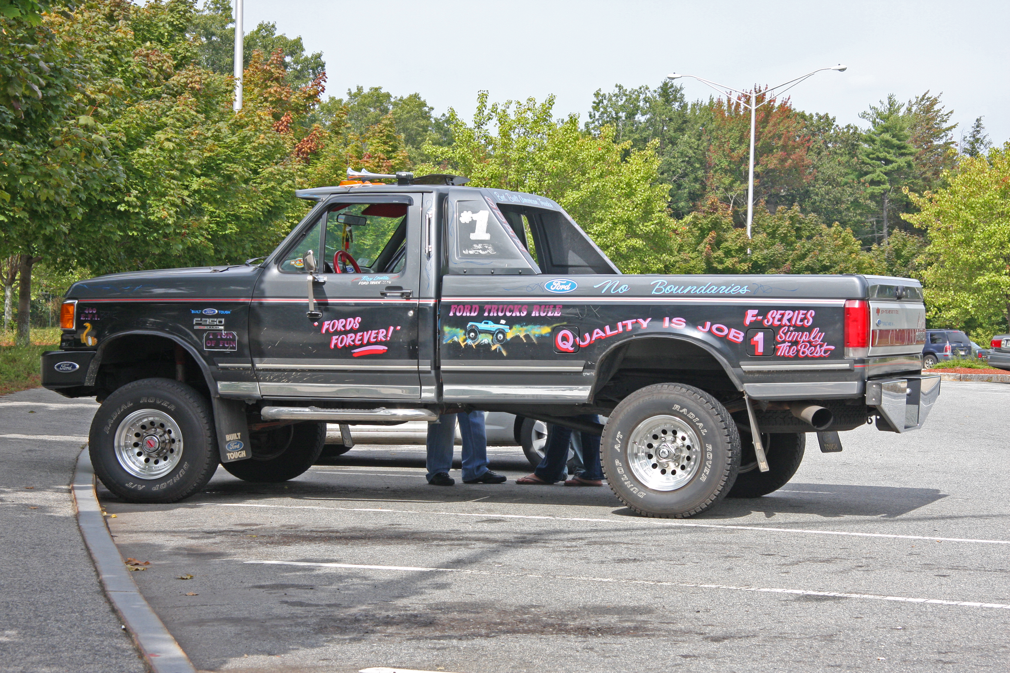
[[[27,345],[31,269],[43,256],[66,255],[88,204],[122,180],[103,118],[127,80],[106,77],[123,64],[97,51],[122,42],[122,31],[96,29],[94,8],[44,14],[38,22],[0,18],[0,253],[18,255],[17,343]]]

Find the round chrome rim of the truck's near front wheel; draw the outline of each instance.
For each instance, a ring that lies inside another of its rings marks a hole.
[[[139,479],[158,479],[179,464],[183,433],[165,412],[141,409],[120,421],[115,451],[124,470]]]

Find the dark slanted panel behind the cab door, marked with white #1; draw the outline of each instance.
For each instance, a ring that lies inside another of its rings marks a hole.
[[[486,267],[532,270],[528,253],[497,208],[486,201],[457,201],[448,227],[449,272]]]

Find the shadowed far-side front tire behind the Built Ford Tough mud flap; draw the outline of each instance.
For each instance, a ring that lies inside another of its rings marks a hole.
[[[314,421],[251,433],[252,457],[224,469],[244,481],[287,481],[312,467],[325,441],[326,424]]]

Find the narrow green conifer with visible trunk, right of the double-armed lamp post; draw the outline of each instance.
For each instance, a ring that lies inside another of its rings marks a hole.
[[[902,186],[914,171],[916,149],[909,142],[911,133],[908,120],[903,115],[901,103],[892,94],[881,105],[870,106],[860,114],[870,122],[863,134],[863,143],[856,153],[860,179],[867,186],[867,194],[880,200],[883,243],[887,244],[889,215],[893,195],[901,194]]]

